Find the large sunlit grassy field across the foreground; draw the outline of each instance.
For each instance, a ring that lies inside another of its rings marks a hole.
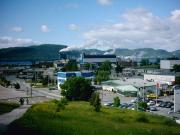
[[[69,102],[56,112],[56,103],[33,105],[9,126],[12,135],[179,135],[180,126],[165,117],[103,107],[94,112],[88,102]]]

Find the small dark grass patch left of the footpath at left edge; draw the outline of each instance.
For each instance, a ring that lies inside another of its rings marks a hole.
[[[17,107],[19,107],[19,104],[1,102],[0,103],[0,114],[10,112]]]

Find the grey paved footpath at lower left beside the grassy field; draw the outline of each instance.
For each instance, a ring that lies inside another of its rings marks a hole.
[[[0,125],[1,126],[3,126],[3,125],[7,126],[12,121],[20,118],[21,116],[23,116],[23,114],[27,111],[27,109],[30,106],[31,105],[22,105],[19,108],[16,108],[9,113],[5,113],[3,115],[0,115]]]

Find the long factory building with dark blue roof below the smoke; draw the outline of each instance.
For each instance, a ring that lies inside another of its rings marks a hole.
[[[116,55],[86,55],[82,54],[80,58],[80,64],[92,63],[99,64],[105,61],[109,61],[111,63],[116,63]]]

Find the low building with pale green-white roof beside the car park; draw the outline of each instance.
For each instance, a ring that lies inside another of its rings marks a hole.
[[[140,78],[124,78],[122,80],[102,82],[102,88],[103,90],[116,91],[122,95],[132,97],[137,95],[143,97],[144,94],[155,93],[156,90],[158,91],[157,94],[160,94],[155,82],[145,81]]]

